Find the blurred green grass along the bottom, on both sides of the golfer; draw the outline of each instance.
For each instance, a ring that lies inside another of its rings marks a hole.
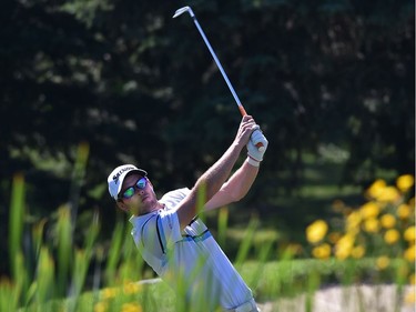
[[[125,220],[116,223],[109,249],[104,250],[97,242],[101,229],[99,215],[94,213],[82,243],[74,245],[77,213],[73,209],[78,207],[88,150],[87,145],[78,149],[77,173],[73,175],[77,182],[71,187],[69,203],[58,208],[54,240],[45,239],[45,220],[40,220],[31,229],[31,252],[35,258],[32,269],[30,255],[24,254],[21,248],[26,212],[24,177],[14,175],[9,220],[11,276],[0,279],[0,311],[190,311],[189,303],[182,300],[186,290],[184,279],[177,280],[179,295],[165,283],[138,283],[144,278],[146,266],[130,238],[130,225]],[[224,246],[229,210],[223,208],[217,215],[217,240]],[[399,294],[396,296],[396,309],[402,304],[403,288],[408,283],[406,260],[389,259],[388,265],[379,270],[377,256],[295,259],[298,255],[288,246],[278,253],[278,259],[270,261],[276,253],[277,238],[258,241],[258,220],[250,220],[234,261],[258,301],[304,294],[304,311],[314,311],[314,294],[324,285],[393,282]],[[252,255],[253,250],[256,251],[255,256]],[[103,268],[101,262],[105,263]],[[203,265],[203,259],[200,264]],[[194,298],[193,303],[192,311],[206,311],[209,306],[204,298]]]

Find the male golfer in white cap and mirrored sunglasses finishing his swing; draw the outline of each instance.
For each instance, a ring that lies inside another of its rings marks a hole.
[[[253,141],[264,149],[258,151]],[[135,245],[156,274],[184,296],[185,311],[260,311],[252,291],[197,218],[197,209],[201,202],[202,209],[212,210],[241,200],[267,144],[254,119],[245,115],[230,148],[192,189],[158,199],[148,172],[132,164],[115,168],[108,178],[110,195],[132,214]],[[231,174],[243,150],[247,157]]]

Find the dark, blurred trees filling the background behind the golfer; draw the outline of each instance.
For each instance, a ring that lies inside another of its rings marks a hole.
[[[337,185],[414,174],[414,1],[7,0],[2,238],[12,175],[26,177],[28,222],[49,215],[71,198],[80,142],[80,211],[100,210],[109,228],[114,167],[145,168],[163,192],[192,187],[224,151],[241,117],[192,20],[172,19],[182,6],[270,140],[250,204],[295,192],[307,155],[339,164]]]

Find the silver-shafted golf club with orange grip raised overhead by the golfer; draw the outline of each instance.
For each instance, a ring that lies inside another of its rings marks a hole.
[[[210,41],[207,40],[204,31],[202,30],[200,23],[197,22],[196,17],[195,17],[194,12],[192,11],[192,9],[190,7],[183,7],[181,9],[177,9],[176,12],[174,13],[173,18],[177,18],[179,16],[183,14],[184,12],[187,12],[191,16],[191,18],[193,19],[199,32],[202,36],[202,39],[204,40],[206,47],[209,48],[209,50],[211,52],[211,56],[213,57],[213,59],[216,63],[216,67],[220,69],[221,73],[222,73],[222,76],[223,76],[223,78],[226,82],[226,85],[229,85],[229,89],[230,89],[231,93],[233,94],[235,102],[239,105],[239,110],[240,110],[241,114],[243,117],[246,115],[247,112],[245,111],[243,104],[241,103],[237,93],[235,92],[233,85],[231,84],[229,77],[226,76],[223,67],[221,66],[221,62],[220,62],[219,58],[216,57],[214,50],[212,49],[212,47],[210,44]],[[255,131],[260,131],[260,130],[255,130]],[[260,151],[263,151],[265,149],[262,142],[254,142],[254,143]]]

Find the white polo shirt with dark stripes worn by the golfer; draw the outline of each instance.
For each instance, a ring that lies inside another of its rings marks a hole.
[[[181,231],[174,208],[189,189],[162,197],[164,209],[132,217],[132,236],[144,261],[160,278],[205,311],[235,309],[252,300],[252,291],[221,250],[206,225],[196,219]]]

